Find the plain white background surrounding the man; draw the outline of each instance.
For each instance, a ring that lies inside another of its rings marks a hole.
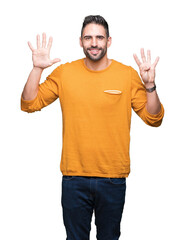
[[[133,112],[131,173],[120,239],[184,240],[184,5],[183,1],[6,1],[1,5],[0,38],[0,239],[66,239],[62,219],[60,157],[62,114],[59,100],[28,114],[20,96],[32,69],[27,41],[53,36],[51,58],[59,64],[84,57],[79,45],[87,15],[109,24],[108,57],[138,67],[133,53],[151,49],[159,56],[156,85],[165,108],[159,128]],[[90,238],[96,239],[94,215]],[[83,239],[82,239],[83,240]]]

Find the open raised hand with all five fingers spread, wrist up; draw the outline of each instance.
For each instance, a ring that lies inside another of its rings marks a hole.
[[[33,66],[41,69],[52,66],[54,63],[60,62],[59,58],[50,59],[50,49],[52,46],[53,38],[50,37],[46,47],[46,34],[42,34],[42,46],[40,43],[40,35],[37,35],[37,49],[34,49],[32,44],[28,42],[28,46],[32,51]]]

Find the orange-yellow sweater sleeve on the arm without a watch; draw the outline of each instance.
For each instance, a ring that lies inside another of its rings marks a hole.
[[[32,113],[40,111],[59,97],[59,81],[61,66],[58,66],[47,76],[46,80],[39,84],[37,96],[32,100],[25,100],[21,95],[21,110]]]

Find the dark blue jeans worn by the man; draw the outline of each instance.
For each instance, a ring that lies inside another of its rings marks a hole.
[[[126,178],[62,176],[66,240],[89,240],[94,210],[97,240],[118,240]]]

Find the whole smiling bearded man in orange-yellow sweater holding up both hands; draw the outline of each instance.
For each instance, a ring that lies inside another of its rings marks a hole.
[[[150,51],[142,62],[134,55],[140,75],[129,66],[108,59],[108,24],[99,15],[84,19],[80,46],[86,58],[58,66],[39,84],[43,69],[59,62],[49,57],[37,36],[37,49],[28,42],[33,69],[21,96],[21,109],[41,110],[58,97],[63,113],[62,178],[63,219],[68,240],[88,240],[95,211],[98,240],[116,240],[130,173],[131,109],[148,125],[160,126],[164,108],[155,86]]]

